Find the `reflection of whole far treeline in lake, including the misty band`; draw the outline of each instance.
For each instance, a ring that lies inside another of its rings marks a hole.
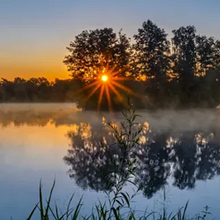
[[[70,177],[80,187],[110,190],[116,182],[115,174],[126,174],[121,158],[136,158],[134,182],[150,198],[170,177],[174,186],[187,189],[194,188],[197,180],[212,179],[220,174],[218,112],[142,112],[150,128],[145,122],[140,143],[126,156],[114,144],[112,130],[99,120],[98,113],[76,111],[69,104],[2,105],[0,126],[7,127],[11,123],[14,126],[71,125],[72,131],[68,134],[71,148],[64,161],[70,167]]]

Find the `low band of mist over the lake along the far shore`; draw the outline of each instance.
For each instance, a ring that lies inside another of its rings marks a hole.
[[[157,132],[187,132],[209,130],[218,131],[220,128],[219,109],[189,109],[189,110],[157,110],[137,111],[140,117],[138,122],[147,122],[149,127]],[[55,126],[71,125],[75,123],[90,123],[98,126],[105,120],[123,121],[120,112],[108,113],[97,111],[81,111],[73,103],[65,104],[0,104],[0,125],[14,124],[46,126],[53,123]]]

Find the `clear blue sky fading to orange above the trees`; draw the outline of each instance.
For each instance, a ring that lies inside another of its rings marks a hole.
[[[83,30],[121,28],[132,37],[148,19],[171,36],[194,25],[220,39],[220,0],[0,0],[0,78],[69,78],[66,47]]]

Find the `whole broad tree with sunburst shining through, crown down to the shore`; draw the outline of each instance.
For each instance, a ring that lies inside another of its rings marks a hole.
[[[112,28],[83,31],[67,49],[70,54],[65,57],[64,63],[73,79],[79,80],[82,88],[87,86],[87,89],[77,91],[80,93],[78,107],[102,110],[123,108],[123,100],[130,91],[125,89],[126,82],[120,81],[124,85],[118,86],[120,92],[112,89],[113,85],[110,84],[113,80],[126,77],[129,71],[130,42],[126,35],[121,31],[116,34]],[[93,83],[100,81],[103,74],[110,76],[111,80],[103,86],[102,83],[98,84],[97,90],[94,90],[96,86],[92,86]],[[88,84],[91,86],[88,87]],[[105,91],[103,93],[102,88]]]

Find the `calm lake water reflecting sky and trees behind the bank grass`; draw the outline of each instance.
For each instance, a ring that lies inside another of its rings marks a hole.
[[[189,200],[189,213],[208,205],[218,219],[219,110],[138,113],[146,132],[136,149],[135,181],[143,191],[133,206],[160,210],[165,191],[168,210]],[[61,209],[73,192],[74,201],[83,196],[83,214],[98,199],[104,200],[107,186],[99,169],[110,169],[103,161],[108,154],[119,153],[117,148],[102,152],[96,143],[103,135],[108,143],[113,141],[103,130],[110,120],[117,124],[123,117],[78,111],[74,104],[0,105],[0,219],[25,219],[38,202],[40,180],[46,196],[56,179],[53,202]],[[132,186],[127,190],[132,192]]]

